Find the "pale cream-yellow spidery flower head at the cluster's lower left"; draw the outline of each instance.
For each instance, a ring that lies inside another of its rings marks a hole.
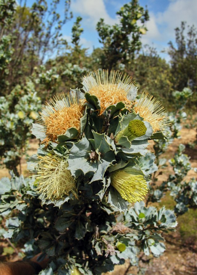
[[[67,169],[65,158],[59,156],[38,156],[38,175],[35,176],[36,190],[46,199],[60,199],[72,193],[77,198],[76,181]]]

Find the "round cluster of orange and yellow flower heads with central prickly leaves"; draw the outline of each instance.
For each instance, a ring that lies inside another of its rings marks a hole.
[[[153,133],[169,125],[161,103],[147,93],[137,100],[131,77],[116,71],[95,71],[82,84],[84,92],[71,90],[46,103],[33,128],[45,144],[37,160],[38,192],[52,200],[78,197],[76,182],[97,182],[103,184],[97,194],[101,200],[109,194],[111,206],[114,192],[128,202],[142,200],[148,179],[135,157],[146,153]],[[125,165],[131,173],[122,170]]]

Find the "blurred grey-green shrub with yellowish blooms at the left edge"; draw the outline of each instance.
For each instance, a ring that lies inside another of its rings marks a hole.
[[[28,148],[30,124],[40,109],[40,98],[30,80],[24,86],[17,85],[9,96],[0,97],[0,160],[15,174]]]

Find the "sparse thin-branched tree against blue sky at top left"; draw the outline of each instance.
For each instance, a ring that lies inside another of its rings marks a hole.
[[[4,66],[0,67],[1,94],[9,94],[16,84],[24,82],[26,76],[33,73],[34,67],[46,61],[49,54],[65,48],[66,41],[62,38],[61,28],[72,16],[69,12],[70,0],[65,1],[64,14],[57,13],[60,0],[53,0],[48,6],[45,0],[36,0],[32,6],[26,2],[2,0],[2,20],[0,38]],[[7,9],[7,10],[6,10]],[[8,11],[9,9],[9,11]],[[10,14],[10,24],[3,19]]]

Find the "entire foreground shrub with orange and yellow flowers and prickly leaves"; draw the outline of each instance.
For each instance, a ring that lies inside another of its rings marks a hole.
[[[163,253],[161,233],[176,226],[173,211],[142,202],[157,169],[145,157],[148,139],[165,138],[169,126],[163,107],[148,94],[138,100],[131,78],[115,71],[82,84],[51,99],[33,123],[41,146],[28,162],[32,179],[0,182],[1,212],[12,213],[3,235],[25,240],[29,255],[46,253],[42,274],[101,274],[125,259],[137,265],[140,251]]]

